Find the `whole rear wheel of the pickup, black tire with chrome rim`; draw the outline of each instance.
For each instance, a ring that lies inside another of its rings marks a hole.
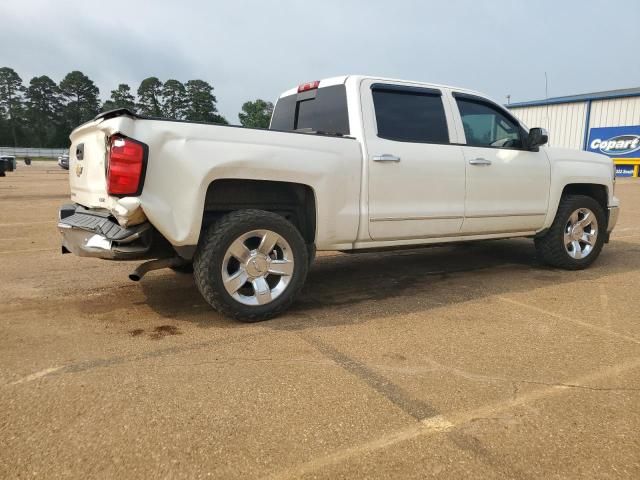
[[[284,217],[238,210],[209,228],[193,268],[196,285],[213,308],[257,322],[293,303],[307,276],[307,247]]]

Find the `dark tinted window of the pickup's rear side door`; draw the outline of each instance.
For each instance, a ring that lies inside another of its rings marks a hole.
[[[449,143],[442,96],[432,90],[373,88],[378,136],[400,142]]]

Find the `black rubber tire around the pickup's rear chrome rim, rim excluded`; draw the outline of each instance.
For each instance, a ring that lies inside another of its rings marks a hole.
[[[285,290],[264,305],[245,305],[226,290],[222,268],[227,250],[240,236],[253,230],[270,230],[290,246],[293,274]],[[264,210],[237,210],[211,225],[196,250],[193,267],[198,290],[214,309],[243,322],[273,318],[293,303],[304,285],[308,271],[307,246],[298,229],[284,217]]]

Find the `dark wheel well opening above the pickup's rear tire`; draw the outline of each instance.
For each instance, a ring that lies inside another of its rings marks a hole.
[[[307,244],[315,242],[316,201],[308,185],[270,180],[215,180],[207,188],[202,230],[227,213],[245,209],[282,215],[296,226]]]

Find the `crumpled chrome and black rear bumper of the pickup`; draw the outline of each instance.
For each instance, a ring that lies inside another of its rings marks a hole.
[[[124,228],[108,211],[80,205],[62,206],[59,218],[62,253],[109,260],[152,258],[154,229],[149,222]]]

